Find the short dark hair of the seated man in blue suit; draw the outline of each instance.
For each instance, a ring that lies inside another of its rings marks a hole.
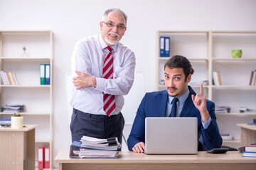
[[[186,57],[183,57],[181,55],[174,55],[173,57],[171,57],[166,62],[166,64],[164,64],[164,69],[166,67],[169,67],[169,69],[182,68],[183,72],[185,74],[185,81],[186,81],[188,75],[193,74],[193,72],[194,72],[191,62],[189,62]]]

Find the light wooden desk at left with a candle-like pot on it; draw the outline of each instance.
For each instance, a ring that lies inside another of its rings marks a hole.
[[[35,169],[35,128],[0,129],[0,169]]]

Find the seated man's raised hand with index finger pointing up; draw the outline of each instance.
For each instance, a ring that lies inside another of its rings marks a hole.
[[[196,106],[198,111],[200,111],[201,113],[203,122],[206,122],[207,120],[209,120],[210,115],[206,108],[206,96],[203,96],[203,84],[201,84],[200,86],[200,94],[196,94],[196,96],[192,94],[191,97],[194,105]]]

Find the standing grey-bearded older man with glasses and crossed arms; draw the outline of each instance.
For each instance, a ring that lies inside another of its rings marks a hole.
[[[122,142],[123,95],[134,81],[135,55],[122,45],[127,16],[118,8],[105,11],[99,35],[79,40],[72,57],[73,91],[70,105],[72,141],[83,135],[118,137]]]

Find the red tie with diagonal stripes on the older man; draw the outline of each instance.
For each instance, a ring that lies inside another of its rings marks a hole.
[[[109,50],[109,53],[107,54],[107,57],[105,58],[105,61],[104,61],[102,77],[105,79],[113,79],[112,49],[109,46],[107,46],[106,48],[107,50]],[[103,110],[108,116],[110,116],[110,114],[115,109],[114,95],[104,94],[103,103],[104,103]]]

